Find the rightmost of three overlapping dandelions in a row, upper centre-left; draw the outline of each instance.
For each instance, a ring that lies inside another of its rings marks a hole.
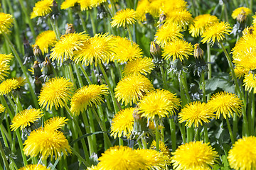
[[[112,60],[127,62],[142,57],[142,49],[135,42],[131,45],[131,41],[127,38],[121,38],[119,36],[114,39],[117,41],[117,44],[116,47],[114,47]]]

